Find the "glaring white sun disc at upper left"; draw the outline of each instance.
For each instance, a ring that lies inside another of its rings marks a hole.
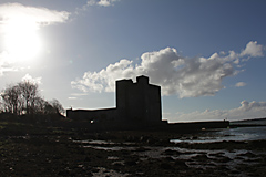
[[[4,46],[12,60],[34,59],[41,50],[38,24],[24,19],[11,20],[6,24]]]

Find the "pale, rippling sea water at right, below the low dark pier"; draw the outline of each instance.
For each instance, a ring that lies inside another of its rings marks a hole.
[[[196,138],[172,139],[173,143],[217,143],[217,142],[247,142],[266,139],[266,126],[237,127],[214,129],[200,134]]]

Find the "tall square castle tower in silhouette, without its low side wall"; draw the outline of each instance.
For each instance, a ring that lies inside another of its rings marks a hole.
[[[161,87],[149,84],[149,77],[116,81],[116,108],[121,121],[160,123],[162,121]]]

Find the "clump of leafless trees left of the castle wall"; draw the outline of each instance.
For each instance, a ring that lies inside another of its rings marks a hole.
[[[10,85],[0,96],[0,112],[21,114],[64,114],[64,108],[58,100],[47,102],[39,96],[38,84],[23,81]]]

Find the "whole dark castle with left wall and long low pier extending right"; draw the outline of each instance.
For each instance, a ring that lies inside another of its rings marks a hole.
[[[161,129],[193,131],[226,128],[228,121],[167,124],[162,121],[161,87],[149,84],[147,76],[116,81],[116,107],[104,110],[66,110],[66,117],[90,122],[90,128],[99,129]],[[85,124],[86,125],[86,124]]]

